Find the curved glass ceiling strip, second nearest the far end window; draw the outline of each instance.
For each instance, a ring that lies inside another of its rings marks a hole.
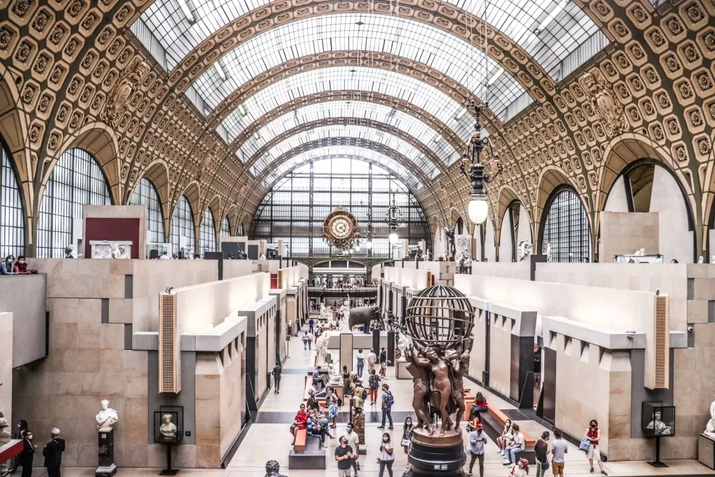
[[[275,159],[280,157],[281,154],[285,154],[290,151],[290,149],[300,146],[300,144],[305,144],[306,142],[315,141],[316,139],[322,139],[324,137],[360,137],[373,142],[379,142],[380,144],[385,144],[385,146],[395,149],[395,151],[399,151],[400,154],[403,154],[414,162],[417,167],[422,169],[425,175],[430,177],[430,179],[434,179],[440,173],[439,169],[435,167],[435,164],[433,164],[430,159],[403,139],[372,127],[355,126],[352,124],[349,127],[342,125],[316,127],[310,131],[295,134],[295,136],[289,137],[285,139],[285,141],[276,144],[275,147],[272,147],[266,154],[263,154],[262,157],[256,161],[251,172],[253,175],[260,175],[263,170],[275,161]]]

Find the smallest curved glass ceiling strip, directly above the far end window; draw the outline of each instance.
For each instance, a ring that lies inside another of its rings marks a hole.
[[[343,152],[340,152],[340,149],[342,149]],[[380,152],[371,151],[369,149],[360,149],[360,147],[352,149],[355,150],[351,151],[347,148],[335,146],[318,147],[316,149],[303,152],[302,154],[297,154],[297,156],[292,157],[286,162],[280,164],[280,167],[278,167],[274,172],[267,174],[265,180],[270,182],[265,182],[265,185],[267,186],[266,190],[271,190],[272,187],[285,177],[286,174],[290,174],[293,170],[304,166],[305,164],[309,164],[311,161],[342,158],[356,159],[364,162],[374,162],[380,167],[383,167],[389,172],[395,174],[395,177],[398,177],[402,182],[404,182],[408,189],[416,195],[417,190],[415,186],[419,185],[420,182],[409,169],[405,168],[405,165],[403,165],[399,159],[393,159],[385,156],[385,154],[380,154]],[[360,154],[350,154],[350,152],[359,152]]]

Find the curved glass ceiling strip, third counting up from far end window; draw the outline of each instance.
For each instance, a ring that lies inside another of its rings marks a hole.
[[[315,125],[340,124],[340,122],[354,122],[381,130],[389,127],[393,134],[418,149],[426,149],[425,155],[428,152],[435,154],[440,159],[438,164],[441,162],[452,164],[460,158],[461,152],[425,122],[393,107],[360,101],[322,102],[282,114],[249,137],[240,147],[239,155],[252,157],[263,154],[277,140],[286,137],[293,130],[300,131]],[[249,159],[247,166],[252,165]]]

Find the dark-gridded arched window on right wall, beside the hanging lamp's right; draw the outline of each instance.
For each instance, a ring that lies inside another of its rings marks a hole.
[[[581,199],[570,189],[556,192],[551,200],[543,227],[541,251],[551,244],[552,262],[588,262],[591,260],[591,229]]]

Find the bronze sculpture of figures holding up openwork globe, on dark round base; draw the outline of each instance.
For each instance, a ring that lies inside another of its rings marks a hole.
[[[405,350],[413,375],[417,428],[405,477],[462,477],[466,461],[460,418],[469,366],[474,308],[459,290],[435,285],[414,295],[405,312],[413,345]],[[450,415],[455,414],[455,421]],[[437,415],[438,421],[432,416]]]

